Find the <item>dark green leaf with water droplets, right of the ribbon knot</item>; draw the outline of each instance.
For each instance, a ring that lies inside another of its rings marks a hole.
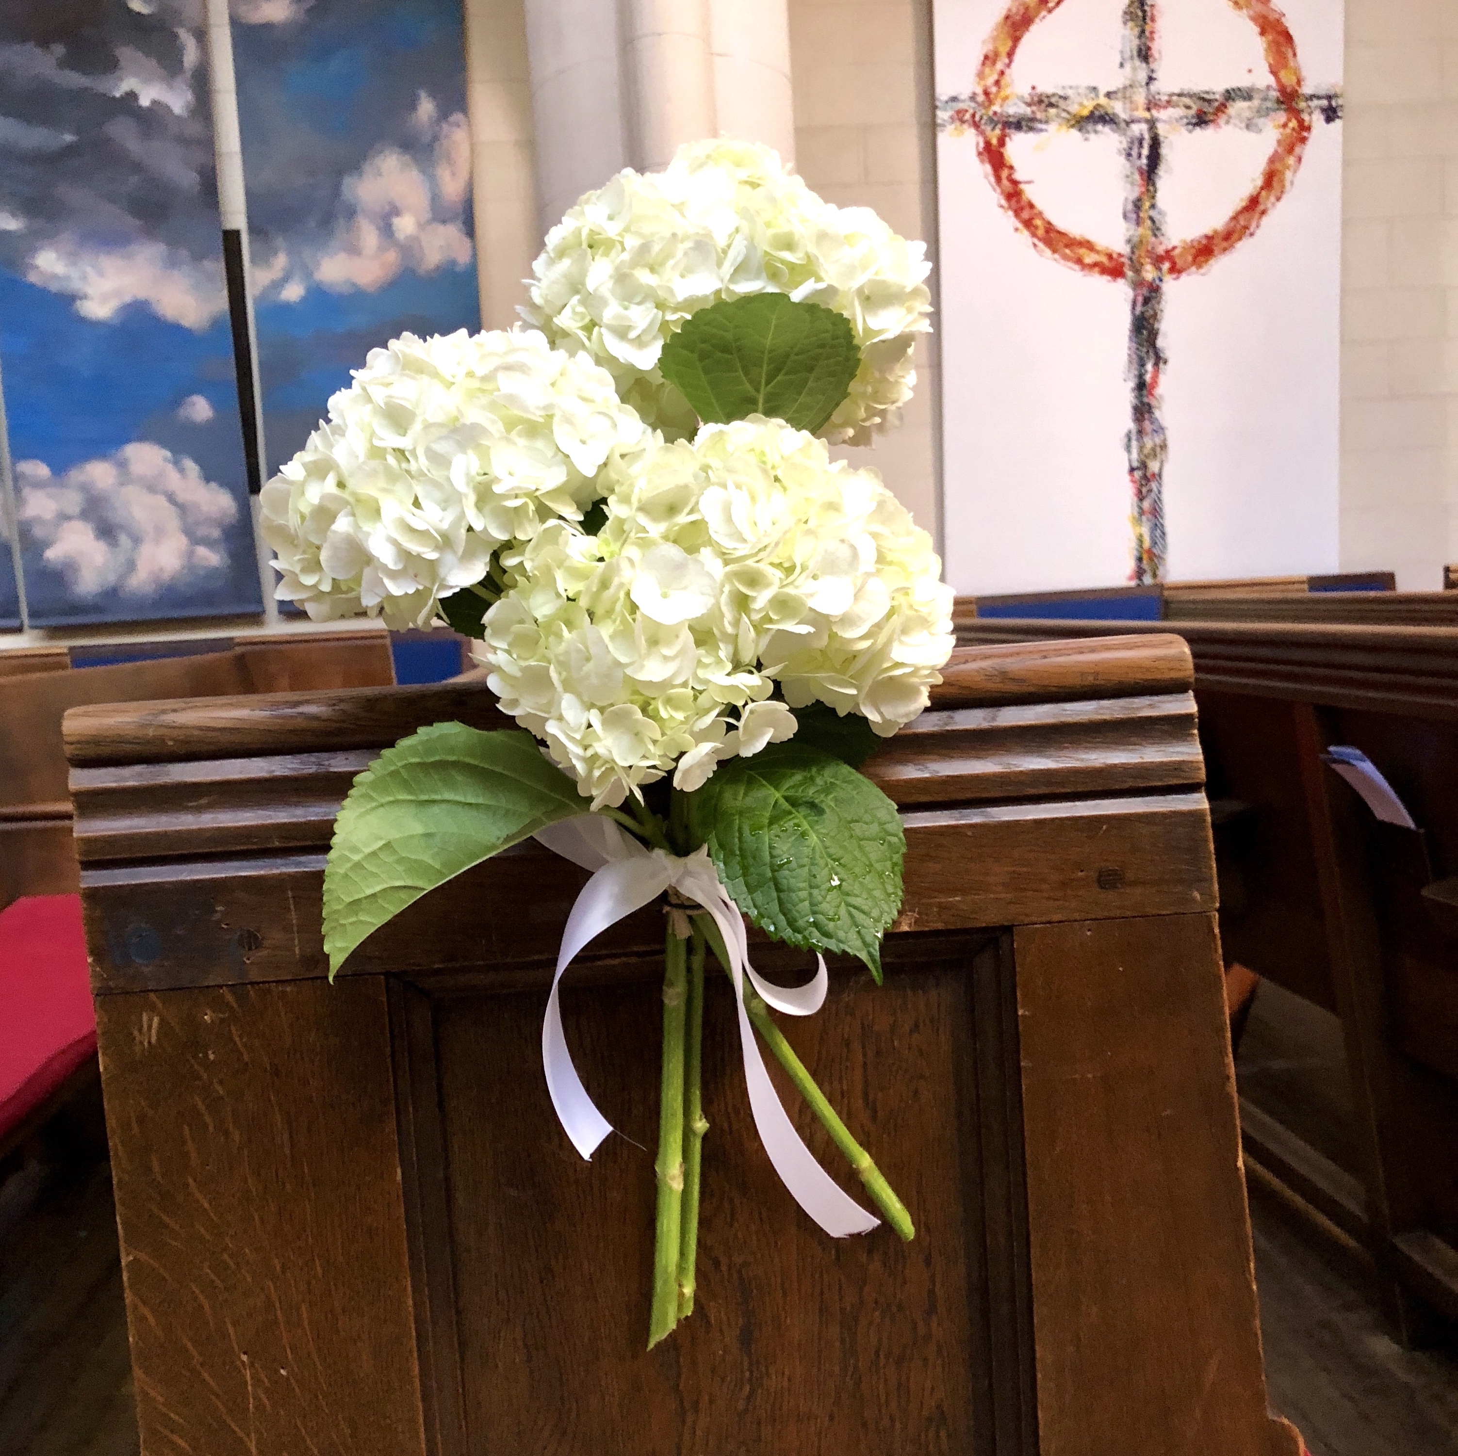
[[[905,835],[869,778],[792,739],[722,764],[688,796],[688,823],[755,925],[792,946],[859,956],[881,979]]]

